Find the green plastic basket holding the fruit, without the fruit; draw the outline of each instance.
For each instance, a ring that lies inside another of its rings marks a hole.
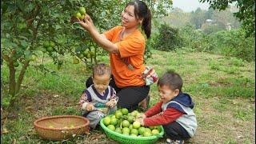
[[[103,119],[100,121],[100,126],[102,126],[102,129],[104,130],[106,136],[108,138],[111,138],[113,139],[114,141],[116,142],[120,142],[120,143],[132,143],[132,144],[135,144],[135,143],[145,143],[145,144],[148,144],[148,143],[155,143],[158,141],[158,138],[162,138],[162,135],[164,134],[164,130],[161,126],[161,131],[159,134],[156,134],[156,135],[152,135],[150,137],[134,137],[134,136],[130,136],[130,135],[125,135],[125,134],[119,134],[118,132],[115,132],[113,130],[110,130],[108,129],[104,123],[103,123]]]

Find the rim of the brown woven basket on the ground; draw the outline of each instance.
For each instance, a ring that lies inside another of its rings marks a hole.
[[[38,125],[38,122],[46,120],[46,119],[51,119],[51,118],[81,118],[84,121],[86,121],[86,124],[81,125],[81,126],[75,126],[73,128],[50,128],[50,127]],[[90,123],[90,120],[88,118],[84,118],[84,117],[78,116],[78,115],[54,115],[54,116],[44,116],[42,118],[38,118],[37,120],[34,121],[34,126],[41,128],[43,130],[74,130],[74,129],[79,129],[82,127],[89,126],[89,123]]]

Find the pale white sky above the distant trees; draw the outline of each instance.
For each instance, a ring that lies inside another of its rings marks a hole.
[[[209,4],[207,2],[201,3],[199,0],[173,0],[173,7],[178,7],[185,12],[197,10],[200,7],[202,10],[208,10]]]

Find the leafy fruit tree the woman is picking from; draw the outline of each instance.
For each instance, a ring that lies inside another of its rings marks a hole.
[[[9,90],[5,98],[13,103],[28,66],[46,70],[45,58],[52,58],[60,68],[63,56],[71,54],[74,63],[97,62],[102,49],[70,17],[79,7],[86,8],[98,30],[105,31],[120,22],[120,13],[128,1],[106,0],[2,0],[1,1],[1,64],[9,69]],[[147,1],[155,16],[165,14],[165,1]],[[168,1],[171,5],[171,1]],[[159,7],[160,6],[160,7]],[[34,65],[33,61],[41,62]]]

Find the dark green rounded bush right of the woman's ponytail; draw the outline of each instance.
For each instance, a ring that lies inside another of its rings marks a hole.
[[[158,30],[158,34],[155,38],[154,49],[169,51],[182,46],[182,38],[180,38],[178,34],[178,29],[165,23],[162,24]]]

